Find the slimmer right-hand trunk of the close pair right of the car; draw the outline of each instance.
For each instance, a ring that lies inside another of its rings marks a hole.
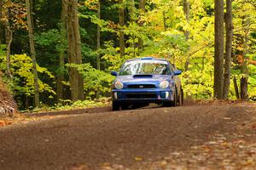
[[[232,24],[232,0],[226,0],[226,14],[224,14],[226,29],[225,62],[224,62],[224,86],[223,98],[229,98],[230,69],[232,56],[233,24]]]

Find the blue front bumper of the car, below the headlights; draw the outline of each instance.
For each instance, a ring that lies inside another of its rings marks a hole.
[[[144,102],[161,103],[163,101],[173,101],[172,88],[154,89],[113,89],[112,99],[115,102]]]

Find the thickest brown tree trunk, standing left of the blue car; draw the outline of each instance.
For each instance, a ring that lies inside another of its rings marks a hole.
[[[78,0],[67,1],[68,62],[82,64],[79,31]],[[69,82],[73,101],[84,99],[83,77],[76,68],[69,67]]]

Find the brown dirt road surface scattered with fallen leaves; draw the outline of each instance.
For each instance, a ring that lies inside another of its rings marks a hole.
[[[51,115],[0,127],[1,170],[256,169],[253,104]]]

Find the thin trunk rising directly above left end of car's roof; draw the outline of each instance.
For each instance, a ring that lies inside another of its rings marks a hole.
[[[123,0],[119,0],[119,46],[120,46],[120,57],[125,56],[125,34],[124,34],[124,26],[125,26],[125,10]]]

